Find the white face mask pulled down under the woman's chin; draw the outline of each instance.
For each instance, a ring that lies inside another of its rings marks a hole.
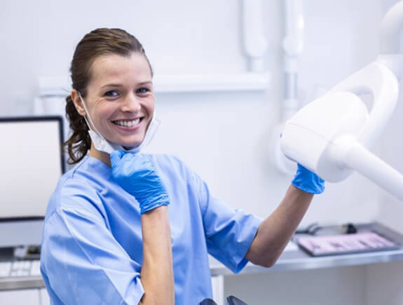
[[[146,135],[144,135],[143,142],[141,144],[139,144],[139,146],[135,147],[134,149],[125,149],[120,144],[111,143],[108,140],[106,140],[104,137],[102,137],[102,135],[95,128],[93,120],[91,120],[90,113],[88,112],[87,107],[86,107],[86,102],[84,102],[84,99],[83,99],[83,97],[81,97],[80,93],[78,93],[78,96],[81,98],[81,101],[83,102],[84,110],[86,110],[88,120],[90,121],[90,123],[88,123],[87,117],[84,116],[84,119],[86,120],[86,123],[88,125],[88,133],[90,134],[91,141],[93,142],[95,149],[97,149],[99,151],[104,151],[107,154],[111,154],[112,151],[115,151],[115,150],[124,150],[124,151],[128,151],[132,154],[136,154],[140,151],[143,151],[148,146],[148,144],[151,142],[151,140],[153,140],[153,137],[154,137],[154,135],[156,135],[156,131],[158,130],[158,127],[160,126],[160,120],[158,118],[156,118],[156,110],[154,109],[153,116],[151,118],[149,127],[146,130]]]

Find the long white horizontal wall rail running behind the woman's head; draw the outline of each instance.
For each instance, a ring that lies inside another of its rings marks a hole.
[[[156,93],[210,93],[238,91],[266,91],[271,77],[265,73],[238,74],[156,74],[153,78]],[[39,96],[66,96],[71,90],[68,76],[41,77]]]

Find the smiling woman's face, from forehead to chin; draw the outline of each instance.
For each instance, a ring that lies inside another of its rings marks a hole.
[[[106,140],[137,147],[154,111],[151,69],[144,55],[103,55],[90,69],[83,97],[93,124]]]

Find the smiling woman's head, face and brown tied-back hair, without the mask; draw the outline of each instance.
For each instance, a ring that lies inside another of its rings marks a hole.
[[[91,149],[88,128],[123,147],[142,142],[153,117],[153,71],[135,36],[121,29],[90,32],[78,43],[70,72],[73,90],[66,112],[73,134],[65,142],[70,164],[81,161],[88,150],[91,156],[98,154]]]

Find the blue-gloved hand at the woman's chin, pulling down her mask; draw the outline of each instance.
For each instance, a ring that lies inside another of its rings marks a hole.
[[[141,214],[170,203],[156,168],[144,154],[113,151],[111,166],[112,175],[119,186],[139,202]]]

